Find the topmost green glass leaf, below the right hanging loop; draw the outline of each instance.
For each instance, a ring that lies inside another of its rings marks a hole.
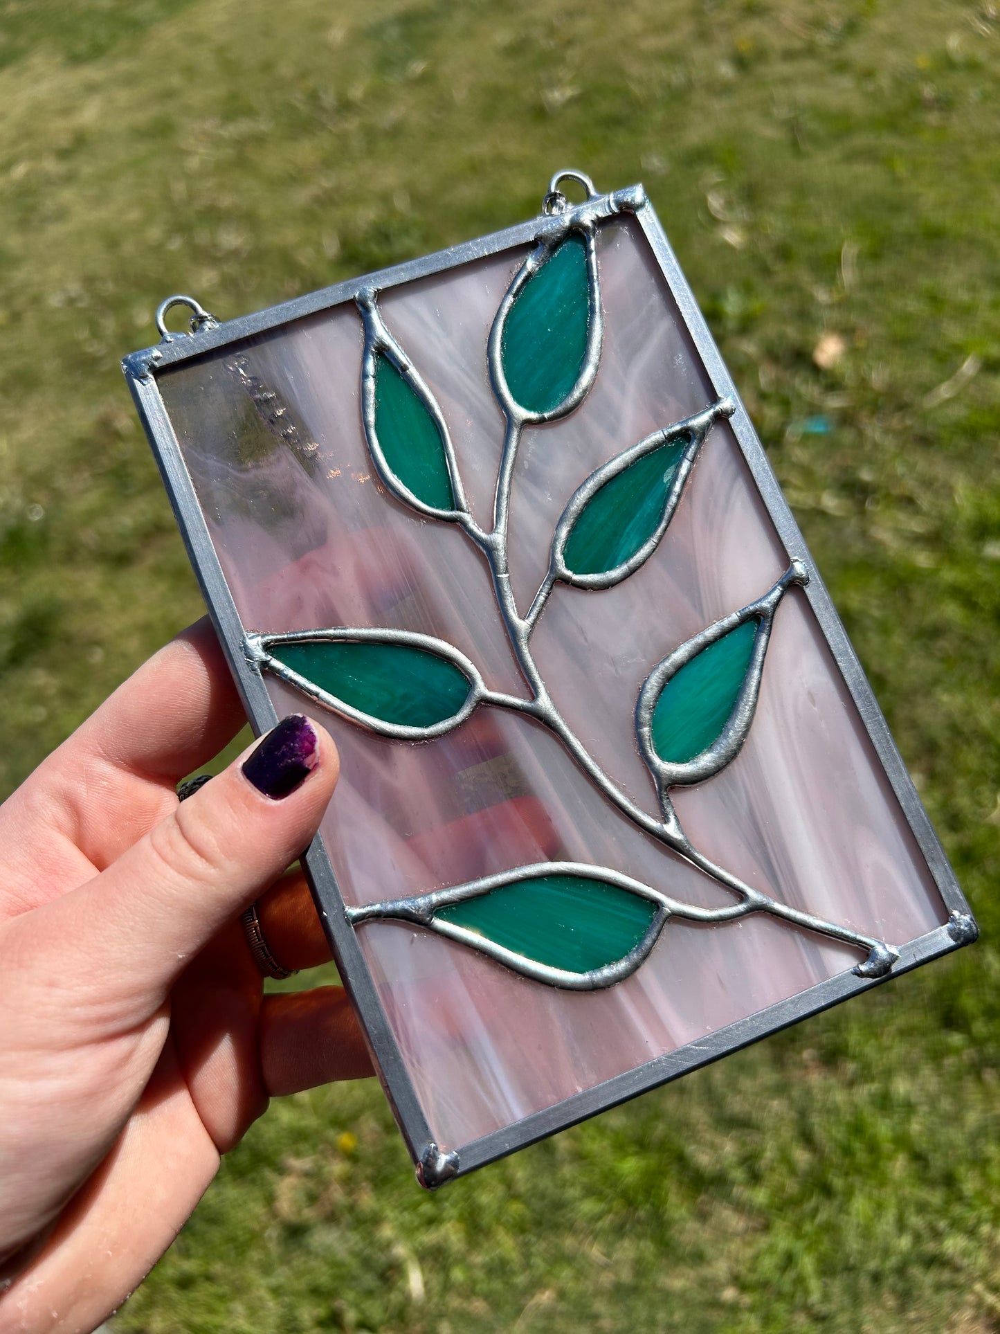
[[[528,412],[552,412],[576,387],[591,324],[587,247],[572,233],[511,305],[500,340],[504,379]]]

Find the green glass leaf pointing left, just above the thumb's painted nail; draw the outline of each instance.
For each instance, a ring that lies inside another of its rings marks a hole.
[[[453,662],[412,644],[272,642],[268,652],[349,708],[395,726],[435,727],[459,714],[472,690]]]

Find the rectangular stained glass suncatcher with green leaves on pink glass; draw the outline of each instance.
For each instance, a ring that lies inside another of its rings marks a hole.
[[[439,1185],[975,939],[641,188],[125,362]]]

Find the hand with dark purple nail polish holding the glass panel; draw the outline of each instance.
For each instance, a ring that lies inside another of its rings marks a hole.
[[[371,1074],[343,990],[263,996],[239,923],[259,899],[280,963],[329,958],[300,875],[263,894],[333,791],[327,732],[177,802],[241,723],[200,622],[0,807],[0,1334],[88,1334],[269,1095]]]

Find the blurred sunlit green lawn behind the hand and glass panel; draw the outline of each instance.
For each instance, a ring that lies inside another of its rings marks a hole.
[[[200,612],[117,370],[159,300],[576,165],[645,181],[985,935],[435,1197],[376,1087],[276,1105],[119,1329],[1000,1330],[999,55],[948,0],[0,3],[4,788]]]

